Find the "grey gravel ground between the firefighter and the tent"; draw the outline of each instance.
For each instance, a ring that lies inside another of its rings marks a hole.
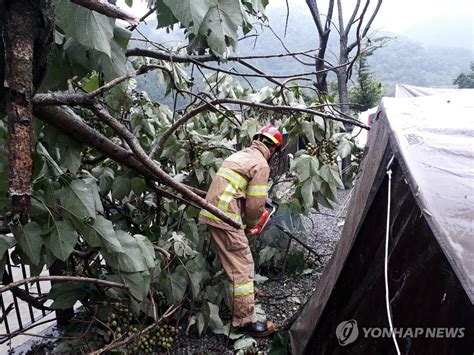
[[[277,326],[288,323],[288,320],[306,302],[313,293],[321,274],[327,265],[339,241],[340,233],[347,211],[351,190],[339,190],[339,204],[333,209],[321,207],[306,220],[309,235],[305,243],[318,255],[320,261],[310,265],[312,272],[294,276],[283,274],[276,279],[268,280],[261,287],[258,304],[265,311],[267,319]],[[302,249],[304,250],[304,249]],[[223,317],[225,319],[225,316]],[[256,339],[258,350],[268,351],[271,338]],[[181,335],[171,350],[174,354],[212,354],[232,353],[233,341],[226,336],[208,333],[202,337]]]

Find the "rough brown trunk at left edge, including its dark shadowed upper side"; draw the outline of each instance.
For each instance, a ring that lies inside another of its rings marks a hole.
[[[8,119],[9,191],[13,211],[26,222],[31,210],[32,97],[46,70],[52,5],[51,0],[17,0],[4,6],[3,92]]]

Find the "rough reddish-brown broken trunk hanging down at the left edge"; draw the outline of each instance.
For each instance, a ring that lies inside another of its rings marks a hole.
[[[31,174],[33,161],[33,51],[35,11],[29,0],[18,0],[7,10],[5,84],[8,94],[9,191],[13,211],[23,222],[31,210]]]

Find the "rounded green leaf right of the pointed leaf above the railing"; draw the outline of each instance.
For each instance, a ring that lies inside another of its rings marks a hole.
[[[77,243],[79,235],[76,229],[67,221],[57,221],[46,237],[46,246],[53,255],[66,261]]]

